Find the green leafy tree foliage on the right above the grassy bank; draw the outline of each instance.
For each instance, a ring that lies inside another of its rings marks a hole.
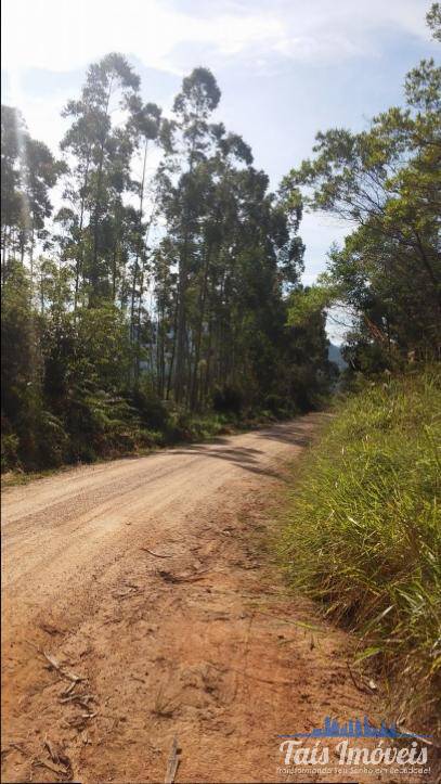
[[[440,7],[428,14],[439,38]],[[441,320],[441,68],[423,60],[405,79],[405,106],[391,107],[360,133],[319,133],[315,156],[282,184],[285,200],[350,221],[354,231],[329,253],[325,285],[294,300],[291,323],[314,303],[332,301],[354,317],[350,362],[359,342],[372,346],[369,370],[413,352],[439,352]],[[375,345],[374,345],[375,344]],[[363,351],[364,367],[369,351]]]

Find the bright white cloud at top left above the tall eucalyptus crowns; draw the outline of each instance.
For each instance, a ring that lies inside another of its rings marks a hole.
[[[230,56],[282,35],[270,13],[198,18],[160,0],[7,0],[3,63],[12,67],[70,70],[108,51],[135,54],[151,67],[179,70],[182,43],[212,47]]]

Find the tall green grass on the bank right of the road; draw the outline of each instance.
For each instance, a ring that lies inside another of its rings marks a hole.
[[[340,403],[296,478],[282,544],[291,583],[360,632],[395,709],[426,720],[441,665],[440,414],[433,370]]]

